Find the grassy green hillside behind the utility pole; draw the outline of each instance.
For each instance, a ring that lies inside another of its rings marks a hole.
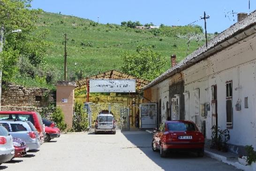
[[[182,27],[163,27],[160,29],[162,33],[158,34],[159,37],[150,38],[159,30],[137,30],[117,24],[98,24],[87,19],[53,13],[41,14],[37,25],[38,32],[49,30],[46,39],[52,46],[45,59],[50,67],[55,68],[56,80],[63,80],[64,75],[64,33],[68,35],[68,78],[72,80],[78,78],[75,78],[75,74],[80,74],[80,70],[83,77],[111,69],[120,70],[121,54],[135,51],[138,45],[151,46],[168,61],[171,54],[176,54],[180,61],[187,56],[186,35],[202,32],[200,27],[191,27],[187,30],[182,30]],[[177,37],[179,31],[184,38]],[[142,39],[143,41],[140,41]],[[123,45],[125,43],[129,44]],[[190,41],[189,53],[196,50],[197,44],[196,39]],[[203,45],[203,39],[199,44]],[[170,62],[166,65],[166,70],[169,67]]]

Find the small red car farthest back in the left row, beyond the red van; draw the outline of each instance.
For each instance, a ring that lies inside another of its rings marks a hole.
[[[43,119],[45,125],[45,141],[51,141],[53,138],[60,137],[60,129],[56,127],[56,124],[48,119]]]

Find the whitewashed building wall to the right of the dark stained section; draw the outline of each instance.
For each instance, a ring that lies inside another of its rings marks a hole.
[[[211,104],[211,86],[217,85],[218,126],[226,129],[226,81],[233,81],[233,129],[229,143],[254,145],[256,148],[256,37],[252,35],[228,49],[186,69],[185,91],[189,92],[186,119],[194,121],[194,89],[200,89],[200,104]],[[235,90],[235,88],[237,88]],[[248,108],[244,108],[244,97],[248,97]],[[235,110],[238,99],[241,111]],[[212,110],[212,109],[211,109]],[[201,115],[201,114],[200,114]],[[206,137],[211,139],[211,111],[206,118]]]

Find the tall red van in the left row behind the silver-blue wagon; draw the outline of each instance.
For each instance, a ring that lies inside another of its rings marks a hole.
[[[40,143],[42,144],[44,142],[44,124],[38,112],[0,111],[0,120],[23,120],[32,122],[40,135]]]

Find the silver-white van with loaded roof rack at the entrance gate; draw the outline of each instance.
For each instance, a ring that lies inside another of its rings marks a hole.
[[[115,119],[112,114],[100,113],[95,122],[95,134],[99,132],[116,133]]]

